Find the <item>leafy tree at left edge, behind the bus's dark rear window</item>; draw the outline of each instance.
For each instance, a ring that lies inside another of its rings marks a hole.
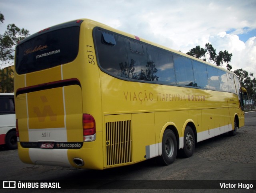
[[[0,22],[4,23],[4,15],[0,12]],[[3,64],[9,66],[13,64],[15,46],[29,35],[28,30],[18,28],[15,24],[8,24],[3,35],[0,34],[0,69]],[[10,78],[4,70],[0,71],[0,88],[2,92],[13,92],[13,78]]]

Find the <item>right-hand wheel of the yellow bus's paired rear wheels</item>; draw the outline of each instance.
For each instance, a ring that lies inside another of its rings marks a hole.
[[[185,132],[184,132],[184,145],[183,149],[181,149],[180,153],[183,157],[191,157],[195,151],[195,135],[190,126],[186,126]]]

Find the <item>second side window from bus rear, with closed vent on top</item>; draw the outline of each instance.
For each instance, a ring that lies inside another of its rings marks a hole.
[[[148,55],[146,54],[146,45],[125,39],[126,53],[128,58],[129,78],[134,80],[151,81],[150,66],[148,63]],[[130,48],[134,48],[131,50]],[[135,51],[135,48],[137,51]],[[144,53],[142,54],[141,52]],[[122,69],[122,68],[121,68]],[[123,68],[122,70],[126,70]]]

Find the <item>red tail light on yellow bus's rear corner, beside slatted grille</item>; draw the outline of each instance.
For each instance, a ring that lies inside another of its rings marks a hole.
[[[84,141],[94,141],[96,138],[96,125],[92,115],[83,114]]]

